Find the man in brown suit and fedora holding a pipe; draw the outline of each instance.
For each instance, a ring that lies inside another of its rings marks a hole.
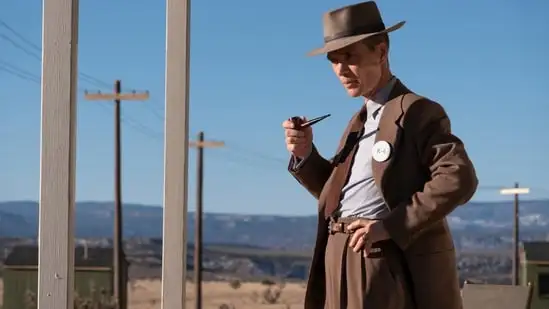
[[[283,123],[289,170],[318,199],[306,309],[461,309],[446,216],[478,180],[443,107],[389,69],[388,33],[373,1],[324,15],[322,48],[364,104],[324,159],[303,118]]]

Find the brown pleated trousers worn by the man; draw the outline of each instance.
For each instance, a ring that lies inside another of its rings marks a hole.
[[[340,224],[352,219],[341,218]],[[415,309],[404,257],[392,241],[373,245],[368,257],[354,252],[351,234],[331,232],[326,246],[324,309]]]

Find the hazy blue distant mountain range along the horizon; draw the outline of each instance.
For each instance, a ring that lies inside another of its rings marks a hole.
[[[523,232],[549,230],[549,200],[522,201],[520,222]],[[472,202],[450,216],[458,234],[501,233],[512,226],[512,202]],[[125,204],[124,237],[160,238],[162,208]],[[204,241],[241,243],[273,248],[310,248],[314,242],[315,216],[275,216],[243,214],[204,214]],[[79,202],[76,234],[85,238],[110,238],[113,228],[113,204]],[[194,213],[189,214],[189,240],[194,231]],[[38,204],[33,201],[0,202],[0,237],[36,237]]]

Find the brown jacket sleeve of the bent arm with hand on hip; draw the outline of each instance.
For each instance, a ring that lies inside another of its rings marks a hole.
[[[401,249],[406,249],[433,223],[444,219],[474,195],[478,179],[463,142],[452,134],[448,115],[438,103],[421,110],[414,132],[415,143],[430,180],[423,190],[398,205],[383,221],[385,229]]]

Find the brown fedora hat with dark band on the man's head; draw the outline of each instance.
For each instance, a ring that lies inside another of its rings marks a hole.
[[[326,54],[368,37],[389,33],[404,26],[401,21],[385,27],[374,1],[357,3],[330,11],[323,16],[324,46],[309,52],[308,56]]]

